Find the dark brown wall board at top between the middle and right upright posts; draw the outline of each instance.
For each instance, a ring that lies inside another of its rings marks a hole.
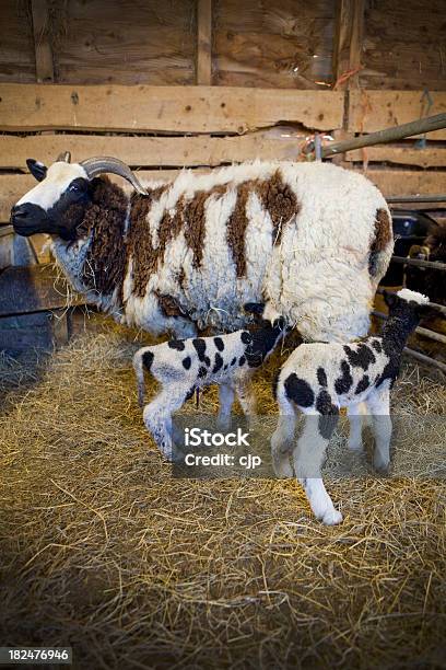
[[[214,0],[215,83],[280,89],[330,83],[333,18],[332,0]]]

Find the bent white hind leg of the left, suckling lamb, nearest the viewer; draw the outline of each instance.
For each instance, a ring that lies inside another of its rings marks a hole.
[[[173,460],[172,414],[181,407],[187,395],[188,390],[186,389],[163,389],[149,405],[145,405],[142,415],[145,427],[168,461]]]

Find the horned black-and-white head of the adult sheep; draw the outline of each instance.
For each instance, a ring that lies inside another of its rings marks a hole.
[[[72,240],[91,203],[92,185],[99,174],[118,174],[130,182],[138,193],[145,189],[122,161],[99,157],[71,163],[70,153],[59,155],[49,168],[28,159],[31,174],[39,182],[11,209],[11,223],[20,235],[48,233]]]

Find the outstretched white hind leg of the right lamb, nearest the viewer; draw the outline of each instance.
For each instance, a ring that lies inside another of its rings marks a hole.
[[[317,475],[320,475],[326,449],[338,423],[339,409],[334,413],[333,408],[331,414],[325,415],[315,411],[304,412],[307,416],[293,454],[294,470],[316,518],[327,525],[334,525],[342,521],[342,515],[334,509],[322,478]]]

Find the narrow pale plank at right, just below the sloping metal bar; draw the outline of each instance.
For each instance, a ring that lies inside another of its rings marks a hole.
[[[412,147],[365,147],[345,153],[345,161],[388,162],[400,165],[418,165],[420,168],[446,168],[446,146],[415,149]]]

